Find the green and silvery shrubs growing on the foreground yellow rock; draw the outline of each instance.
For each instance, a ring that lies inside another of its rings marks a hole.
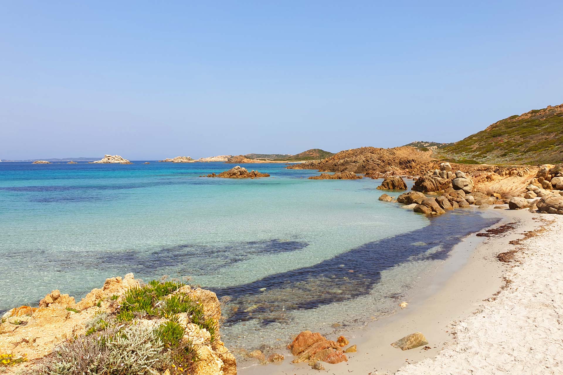
[[[177,314],[207,329],[211,340],[217,323],[205,316],[202,304],[180,290],[182,286],[151,281],[122,297],[112,296],[122,300],[115,313],[95,314],[86,322],[86,335],[62,343],[23,375],[154,375],[166,369],[172,375],[190,373],[198,356]],[[166,321],[155,324],[161,318]]]

